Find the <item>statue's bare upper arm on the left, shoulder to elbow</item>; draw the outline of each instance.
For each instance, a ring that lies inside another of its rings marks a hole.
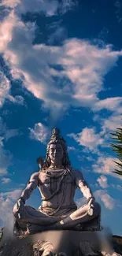
[[[39,173],[33,173],[31,175],[31,178],[27,184],[27,186],[24,188],[24,191],[22,191],[22,194],[20,195],[20,198],[25,203],[26,200],[31,196],[31,193],[35,190],[39,182]]]

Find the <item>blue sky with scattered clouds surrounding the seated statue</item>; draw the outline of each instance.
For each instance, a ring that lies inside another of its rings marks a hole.
[[[0,10],[0,225],[12,219],[56,126],[102,206],[102,224],[122,235],[109,147],[121,125],[122,2],[2,0]],[[76,191],[79,206],[82,196]],[[37,189],[27,203],[38,208]]]

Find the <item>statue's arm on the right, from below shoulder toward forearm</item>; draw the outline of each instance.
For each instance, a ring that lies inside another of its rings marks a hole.
[[[86,180],[83,179],[83,174],[79,171],[76,171],[76,186],[80,188],[83,195],[89,201],[91,198],[94,198],[90,187],[88,187]]]

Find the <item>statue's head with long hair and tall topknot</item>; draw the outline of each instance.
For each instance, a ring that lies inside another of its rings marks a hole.
[[[59,129],[54,128],[50,142],[47,144],[44,166],[49,167],[51,164],[58,165],[60,162],[64,167],[70,165],[65,139],[61,137]]]

